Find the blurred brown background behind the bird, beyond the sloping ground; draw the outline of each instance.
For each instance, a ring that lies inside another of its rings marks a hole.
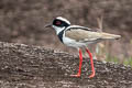
[[[92,53],[98,59],[132,66],[132,0],[0,0],[0,41],[77,54],[44,28],[58,15],[91,29],[98,29],[97,18],[102,15],[102,31],[122,38],[100,43],[98,54]]]

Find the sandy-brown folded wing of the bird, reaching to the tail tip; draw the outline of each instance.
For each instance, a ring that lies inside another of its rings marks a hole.
[[[67,30],[65,35],[69,38],[76,40],[77,42],[97,41],[97,40],[111,40],[119,38],[120,35],[109,34],[105,32],[92,32],[86,30]]]

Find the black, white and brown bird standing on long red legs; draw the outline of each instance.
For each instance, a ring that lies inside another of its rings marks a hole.
[[[45,28],[53,28],[58,36],[59,41],[70,47],[75,47],[79,52],[79,69],[77,74],[70,75],[72,77],[80,77],[81,66],[82,66],[82,53],[81,48],[85,48],[89,55],[91,64],[91,74],[89,78],[95,77],[96,72],[94,67],[92,54],[88,50],[89,44],[99,43],[106,40],[118,40],[121,35],[110,34],[106,32],[94,31],[92,29],[81,26],[81,25],[72,25],[70,22],[63,18],[55,18],[52,23],[45,25]]]

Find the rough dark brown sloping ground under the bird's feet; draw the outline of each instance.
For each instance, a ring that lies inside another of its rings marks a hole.
[[[0,88],[132,88],[132,68],[84,58],[80,78],[78,56],[41,46],[0,42]]]

